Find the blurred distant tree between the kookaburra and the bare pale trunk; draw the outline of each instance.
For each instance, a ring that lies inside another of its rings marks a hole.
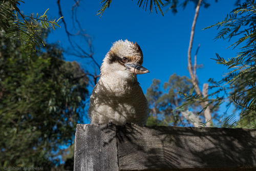
[[[204,117],[200,102],[186,103],[186,95],[196,95],[192,81],[186,76],[173,74],[168,82],[154,79],[147,89],[146,98],[150,106],[150,117],[147,125],[203,126]],[[213,118],[218,119],[218,108],[211,107]]]

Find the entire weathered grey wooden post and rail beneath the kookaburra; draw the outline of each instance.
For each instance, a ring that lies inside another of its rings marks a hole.
[[[78,124],[74,170],[256,170],[256,130]]]

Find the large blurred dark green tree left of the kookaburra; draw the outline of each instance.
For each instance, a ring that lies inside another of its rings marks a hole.
[[[50,170],[59,146],[73,143],[88,78],[56,45],[28,58],[26,48],[0,33],[0,167]]]

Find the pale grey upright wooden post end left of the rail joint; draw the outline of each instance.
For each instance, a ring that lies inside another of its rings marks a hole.
[[[118,170],[116,127],[114,124],[77,124],[75,171]]]

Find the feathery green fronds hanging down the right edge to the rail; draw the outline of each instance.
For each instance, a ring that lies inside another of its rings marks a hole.
[[[243,35],[230,46],[236,48],[242,45],[241,52],[228,60],[217,54],[215,60],[217,63],[227,66],[229,72],[220,81],[209,79],[211,83],[209,88],[214,92],[207,98],[190,93],[186,96],[187,102],[183,106],[198,101],[215,104],[215,108],[222,103],[227,103],[227,109],[234,105],[233,113],[240,112],[239,121],[237,122],[235,115],[232,114],[222,117],[219,125],[223,127],[255,127],[255,3],[254,1],[245,1],[240,4],[240,1],[237,1],[237,5],[239,7],[232,10],[222,22],[207,28],[214,26],[218,26],[218,29],[222,28],[216,39],[228,38],[230,40]],[[228,87],[227,84],[229,84]]]

